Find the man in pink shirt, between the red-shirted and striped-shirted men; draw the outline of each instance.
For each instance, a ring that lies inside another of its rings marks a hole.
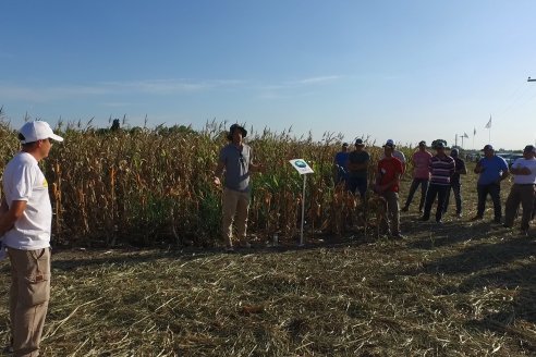
[[[410,194],[405,200],[405,205],[402,208],[403,212],[407,212],[410,205],[412,204],[413,196],[421,185],[421,202],[418,205],[418,211],[423,212],[424,202],[426,200],[426,193],[428,192],[428,183],[430,181],[429,162],[431,153],[426,151],[426,141],[418,143],[418,150],[413,153],[413,181],[410,187]]]

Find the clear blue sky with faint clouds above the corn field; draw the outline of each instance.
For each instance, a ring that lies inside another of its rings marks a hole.
[[[3,0],[0,13],[14,127],[26,113],[97,126],[147,115],[377,144],[536,140],[533,0]]]

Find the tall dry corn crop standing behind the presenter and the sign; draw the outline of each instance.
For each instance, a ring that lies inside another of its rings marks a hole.
[[[227,144],[227,123],[207,122],[202,131],[157,126],[149,130],[96,130],[92,123],[57,124],[65,140],[41,161],[52,200],[52,241],[64,246],[196,246],[219,244],[221,190],[214,186],[219,150]],[[265,128],[247,137],[255,161],[266,171],[253,176],[248,234],[276,232],[287,239],[300,233],[302,177],[289,160],[305,159],[306,234],[341,235],[354,223],[374,220],[374,205],[363,205],[343,187],[334,187],[332,162],[341,135],[296,138],[291,131]],[[0,120],[0,164],[20,149],[16,130]],[[371,168],[381,148],[369,143]],[[375,170],[369,170],[373,182]],[[370,198],[374,202],[374,197]],[[366,211],[364,207],[366,206]],[[358,222],[357,222],[358,221]]]

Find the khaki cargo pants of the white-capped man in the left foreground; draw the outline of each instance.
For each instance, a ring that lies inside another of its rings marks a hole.
[[[14,356],[39,355],[50,299],[50,248],[8,248],[11,261],[10,318]]]

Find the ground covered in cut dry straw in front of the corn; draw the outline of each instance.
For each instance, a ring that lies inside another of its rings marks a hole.
[[[534,243],[462,224],[300,250],[61,251],[45,355],[534,355]]]

